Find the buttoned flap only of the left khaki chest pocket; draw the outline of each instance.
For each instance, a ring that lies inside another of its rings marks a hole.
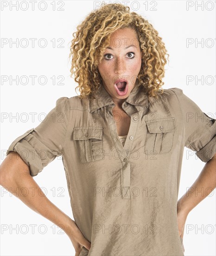
[[[89,140],[98,139],[102,140],[102,127],[76,127],[73,132],[73,139],[76,140]]]

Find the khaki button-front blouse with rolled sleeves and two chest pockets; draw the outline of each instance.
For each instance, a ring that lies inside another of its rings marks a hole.
[[[95,99],[61,97],[7,155],[17,151],[32,177],[62,155],[73,217],[91,243],[80,256],[184,256],[177,221],[184,147],[209,161],[216,120],[182,89],[148,99],[135,87],[122,104],[131,118],[124,140],[113,107],[103,86]]]

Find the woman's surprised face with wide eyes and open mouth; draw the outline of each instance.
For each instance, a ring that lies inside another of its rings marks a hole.
[[[119,107],[134,88],[140,67],[141,52],[136,31],[132,28],[116,30],[111,35],[98,70],[104,88]],[[127,84],[122,81],[118,83],[118,79],[125,79]]]

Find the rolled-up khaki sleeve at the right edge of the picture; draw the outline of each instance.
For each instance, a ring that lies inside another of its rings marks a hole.
[[[196,151],[195,154],[203,162],[208,162],[216,154],[216,119],[204,113],[182,89],[172,88],[172,91],[182,111],[184,146]]]

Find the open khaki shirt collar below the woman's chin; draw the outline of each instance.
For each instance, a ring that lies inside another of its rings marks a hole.
[[[136,85],[125,101],[131,105],[146,108],[148,104],[148,96],[146,93],[144,93],[141,85],[139,87]],[[111,96],[108,94],[107,90],[101,84],[96,91],[95,99],[89,99],[90,113],[108,105],[115,104]]]

